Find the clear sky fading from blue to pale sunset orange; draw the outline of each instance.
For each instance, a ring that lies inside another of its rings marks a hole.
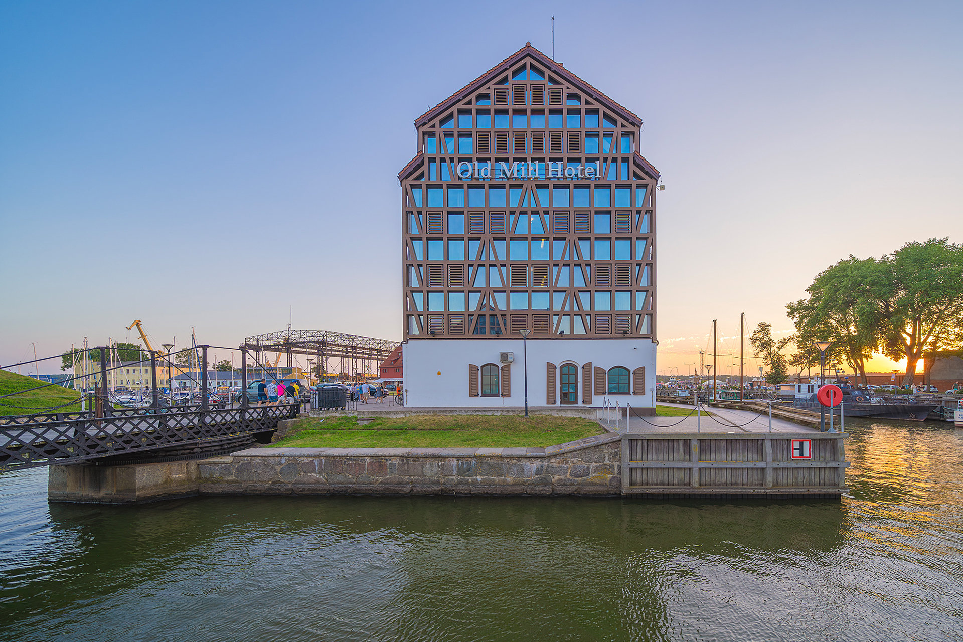
[[[786,303],[849,254],[963,241],[958,2],[9,1],[0,365],[135,319],[178,347],[400,340],[413,121],[526,41],[551,53],[553,14],[556,60],[642,117],[662,172],[659,373],[716,319],[723,354],[742,312],[791,333]]]

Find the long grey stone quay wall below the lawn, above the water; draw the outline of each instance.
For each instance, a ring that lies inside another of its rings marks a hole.
[[[622,492],[618,434],[547,448],[256,448],[197,462],[201,495],[584,495]]]

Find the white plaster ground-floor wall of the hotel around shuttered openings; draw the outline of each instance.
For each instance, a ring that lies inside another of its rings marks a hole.
[[[645,367],[645,395],[613,395],[625,407],[654,406],[656,347],[649,339],[529,339],[529,406],[545,406],[545,363],[559,369],[565,362],[579,367],[579,405],[582,403],[582,365],[609,370],[624,366],[631,373]],[[468,365],[499,366],[499,352],[514,352],[511,364],[511,397],[469,397]],[[521,406],[525,403],[524,356],[521,339],[411,339],[403,347],[404,405],[408,407]],[[439,373],[440,372],[440,373]],[[559,407],[560,371],[556,372],[556,403]],[[603,405],[605,397],[592,396],[592,407]],[[561,406],[565,407],[565,406]]]

